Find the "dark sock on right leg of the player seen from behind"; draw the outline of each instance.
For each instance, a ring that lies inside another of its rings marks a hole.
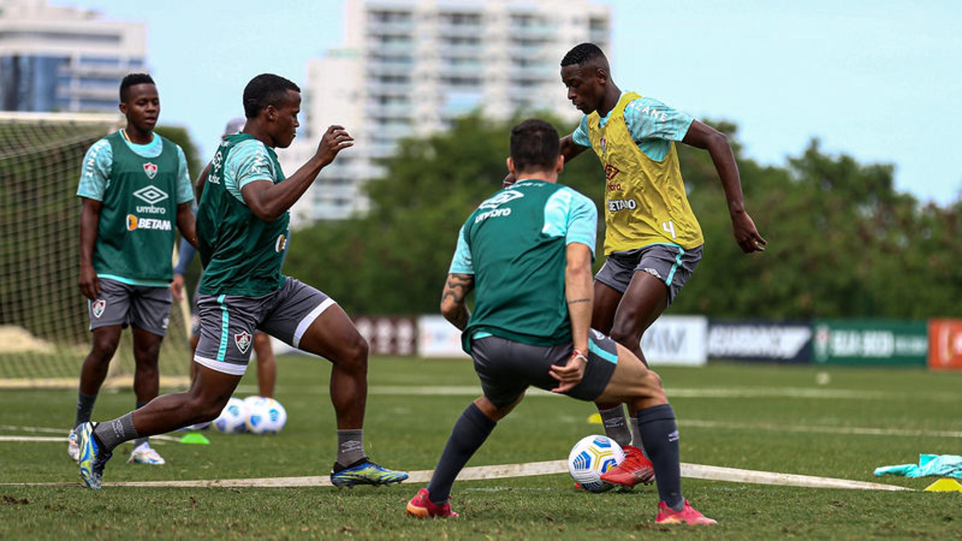
[[[678,427],[671,404],[649,407],[638,412],[638,431],[648,459],[655,468],[658,497],[675,511],[685,506],[681,495],[681,462],[678,452]]]

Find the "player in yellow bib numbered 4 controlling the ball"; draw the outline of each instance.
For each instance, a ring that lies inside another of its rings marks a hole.
[[[708,150],[722,180],[735,241],[746,253],[766,242],[745,210],[742,183],[725,136],[692,116],[635,92],[622,92],[604,53],[581,43],[561,61],[568,99],[584,113],[561,140],[568,162],[587,148],[605,174],[607,257],[595,275],[592,328],[608,333],[645,361],[641,339],[694,272],[704,240],[685,193],[676,142]],[[511,179],[506,179],[510,182]],[[625,447],[625,460],[604,478],[626,486],[650,482],[651,463],[639,449],[637,420],[630,441],[621,404],[598,404],[605,432]]]

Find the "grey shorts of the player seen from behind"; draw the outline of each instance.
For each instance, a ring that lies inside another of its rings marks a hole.
[[[558,380],[548,374],[551,365],[564,365],[571,356],[571,344],[529,346],[499,336],[471,340],[474,372],[481,378],[484,396],[503,407],[517,400],[530,385],[550,391]],[[608,386],[618,364],[618,346],[611,338],[592,329],[588,339],[585,375],[566,395],[594,400]]]

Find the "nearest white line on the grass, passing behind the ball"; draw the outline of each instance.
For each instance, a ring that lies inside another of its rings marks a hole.
[[[411,472],[405,483],[424,483],[430,480],[431,470]],[[495,466],[473,466],[465,468],[458,475],[458,480],[499,479],[507,477],[531,477],[550,474],[568,473],[567,460],[547,460],[544,462],[528,462],[526,464],[501,464]],[[719,466],[705,466],[682,462],[681,476],[695,479],[729,481],[751,484],[771,484],[780,486],[798,486],[806,488],[844,488],[852,490],[912,490],[902,486],[853,481],[833,477],[797,476],[793,474],[779,474],[776,472],[761,472],[756,470],[742,470],[739,468],[722,468]],[[0,483],[0,486],[40,486],[40,485],[73,485],[76,483]],[[176,481],[127,481],[104,483],[110,487],[179,487],[179,488],[288,488],[310,486],[332,486],[330,477],[262,477],[238,479],[199,479]]]

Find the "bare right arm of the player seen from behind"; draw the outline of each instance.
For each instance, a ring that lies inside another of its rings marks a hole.
[[[551,377],[558,380],[555,393],[570,391],[581,382],[588,364],[588,333],[592,326],[594,283],[592,250],[588,245],[571,243],[566,248],[565,301],[571,322],[571,345],[574,350],[564,366],[552,366]]]

